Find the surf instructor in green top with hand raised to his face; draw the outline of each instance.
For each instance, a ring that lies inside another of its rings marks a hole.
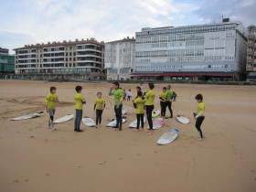
[[[109,95],[114,95],[114,113],[116,117],[116,125],[113,128],[119,128],[122,131],[122,108],[123,108],[123,90],[119,88],[119,83],[112,83]]]

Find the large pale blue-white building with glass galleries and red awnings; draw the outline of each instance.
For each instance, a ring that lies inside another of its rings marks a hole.
[[[133,79],[240,80],[247,30],[240,22],[224,21],[136,32]]]

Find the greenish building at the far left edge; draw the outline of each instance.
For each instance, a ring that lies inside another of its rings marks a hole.
[[[15,56],[9,55],[9,49],[0,48],[0,73],[15,72]]]

